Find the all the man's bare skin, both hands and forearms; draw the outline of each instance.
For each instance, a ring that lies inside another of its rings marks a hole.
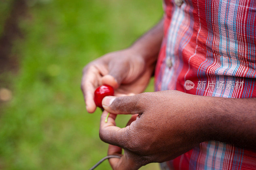
[[[96,109],[93,92],[101,84],[112,85],[117,96],[122,96],[102,101],[105,111],[100,138],[110,144],[109,155],[122,156],[109,159],[112,168],[138,169],[151,162],[167,161],[210,140],[255,150],[256,99],[198,96],[172,90],[141,93],[154,70],[162,37],[161,21],[132,47],[102,56],[84,69],[81,87],[88,112]],[[108,112],[111,114],[106,123]],[[116,127],[117,114],[132,114],[127,127]]]

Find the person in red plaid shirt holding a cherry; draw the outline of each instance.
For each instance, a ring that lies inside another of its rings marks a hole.
[[[165,0],[164,11],[131,47],[83,70],[89,113],[96,87],[115,88],[100,122],[108,154],[122,155],[110,165],[255,169],[256,1]],[[142,93],[153,74],[156,92]],[[116,127],[117,114],[132,114],[127,127]]]

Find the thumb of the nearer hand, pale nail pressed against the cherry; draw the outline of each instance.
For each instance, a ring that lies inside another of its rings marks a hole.
[[[139,102],[139,95],[133,96],[106,96],[102,100],[103,108],[114,114],[139,114],[143,106]]]

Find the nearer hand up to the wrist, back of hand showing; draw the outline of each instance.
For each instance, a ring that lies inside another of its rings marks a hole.
[[[129,97],[105,97],[100,138],[111,144],[108,154],[113,169],[138,169],[151,162],[173,159],[208,140],[202,113],[195,112],[197,96],[179,91],[141,93]],[[108,112],[108,122],[104,122]],[[127,127],[115,125],[116,114],[138,114]],[[133,122],[132,122],[133,121]],[[116,145],[116,146],[114,146]],[[118,147],[119,146],[119,147]],[[120,148],[121,147],[121,148]]]

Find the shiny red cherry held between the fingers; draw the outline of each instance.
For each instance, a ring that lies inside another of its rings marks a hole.
[[[96,106],[102,107],[102,100],[105,96],[114,96],[114,89],[110,85],[101,85],[94,92],[94,102]]]

